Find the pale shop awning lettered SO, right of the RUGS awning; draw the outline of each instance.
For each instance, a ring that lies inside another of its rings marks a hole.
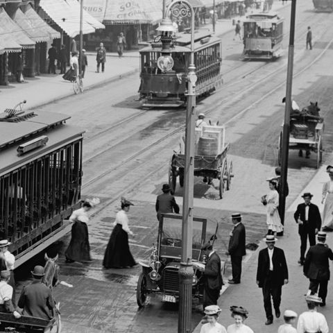
[[[161,20],[161,0],[108,0],[103,23],[157,24]]]

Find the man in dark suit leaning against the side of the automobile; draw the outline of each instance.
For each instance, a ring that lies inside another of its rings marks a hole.
[[[214,251],[212,244],[205,244],[201,250],[207,256],[204,271],[205,289],[203,292],[203,309],[208,305],[216,305],[223,285],[221,275],[221,259]]]

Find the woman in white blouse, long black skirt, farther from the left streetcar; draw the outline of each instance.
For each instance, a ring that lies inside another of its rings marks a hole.
[[[130,210],[130,205],[133,205],[133,203],[121,198],[121,210],[117,212],[116,220],[113,223],[114,228],[105,250],[103,259],[105,268],[133,267],[137,264],[128,246],[128,234],[133,237],[133,232],[128,228],[128,217],[126,214]]]

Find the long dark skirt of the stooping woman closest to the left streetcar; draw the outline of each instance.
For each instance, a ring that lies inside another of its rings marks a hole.
[[[91,260],[87,223],[76,221],[71,227],[71,242],[65,252],[66,259],[74,262]]]

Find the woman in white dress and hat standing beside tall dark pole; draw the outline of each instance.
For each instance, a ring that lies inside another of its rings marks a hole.
[[[278,211],[279,207],[279,194],[276,190],[278,181],[275,178],[268,180],[268,187],[270,191],[266,195],[266,223],[268,228],[267,234],[276,234],[283,231],[283,225],[281,224],[280,215]],[[264,203],[264,202],[263,202]],[[265,204],[265,203],[264,203]]]

